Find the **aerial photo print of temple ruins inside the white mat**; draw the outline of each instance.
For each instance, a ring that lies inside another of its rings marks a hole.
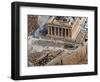
[[[28,15],[28,66],[88,63],[88,18]]]

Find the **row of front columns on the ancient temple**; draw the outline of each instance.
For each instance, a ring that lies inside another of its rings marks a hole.
[[[71,29],[49,26],[48,27],[48,35],[71,37]]]

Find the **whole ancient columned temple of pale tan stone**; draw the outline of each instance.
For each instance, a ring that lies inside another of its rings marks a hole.
[[[71,21],[52,17],[48,21],[48,36],[74,40],[80,31],[79,17],[73,17]]]

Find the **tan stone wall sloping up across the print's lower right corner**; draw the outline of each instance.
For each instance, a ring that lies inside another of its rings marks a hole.
[[[75,65],[75,64],[87,64],[87,47],[81,46],[77,51],[69,53],[62,53],[57,56],[47,65]]]

